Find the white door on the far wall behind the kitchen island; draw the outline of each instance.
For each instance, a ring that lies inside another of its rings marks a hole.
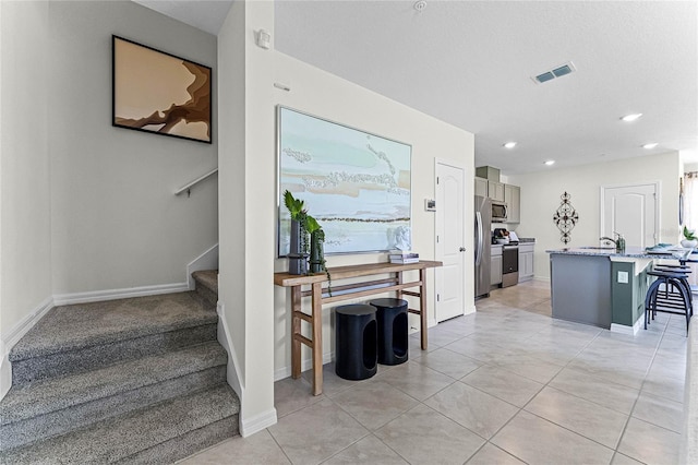
[[[650,247],[659,241],[659,199],[655,183],[603,187],[601,236],[619,233],[627,247]]]

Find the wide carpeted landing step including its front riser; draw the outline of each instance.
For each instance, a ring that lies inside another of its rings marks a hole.
[[[195,293],[56,307],[10,351],[13,385],[215,341],[217,322]]]

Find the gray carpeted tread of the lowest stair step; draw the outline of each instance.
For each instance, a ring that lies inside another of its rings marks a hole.
[[[186,441],[197,430],[224,424],[228,437],[237,434],[239,402],[227,384],[176,397],[148,408],[131,412],[62,437],[52,438],[26,448],[9,451],[2,461],[7,464],[105,464],[130,462],[142,451],[167,443],[176,438],[181,456],[201,449],[202,439]],[[226,418],[231,421],[225,422]],[[221,436],[220,431],[215,434]],[[160,463],[167,463],[171,457]],[[153,462],[151,462],[153,463]],[[157,462],[156,462],[157,463]]]

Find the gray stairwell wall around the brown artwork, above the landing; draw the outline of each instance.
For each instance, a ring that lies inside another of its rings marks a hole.
[[[172,192],[217,144],[111,127],[111,34],[212,67],[214,86],[216,37],[130,1],[50,2],[49,19],[53,294],[184,282],[217,242],[217,181]]]

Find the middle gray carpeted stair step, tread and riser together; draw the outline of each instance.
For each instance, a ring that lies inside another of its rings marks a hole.
[[[0,402],[0,451],[226,381],[217,342],[12,388]]]

